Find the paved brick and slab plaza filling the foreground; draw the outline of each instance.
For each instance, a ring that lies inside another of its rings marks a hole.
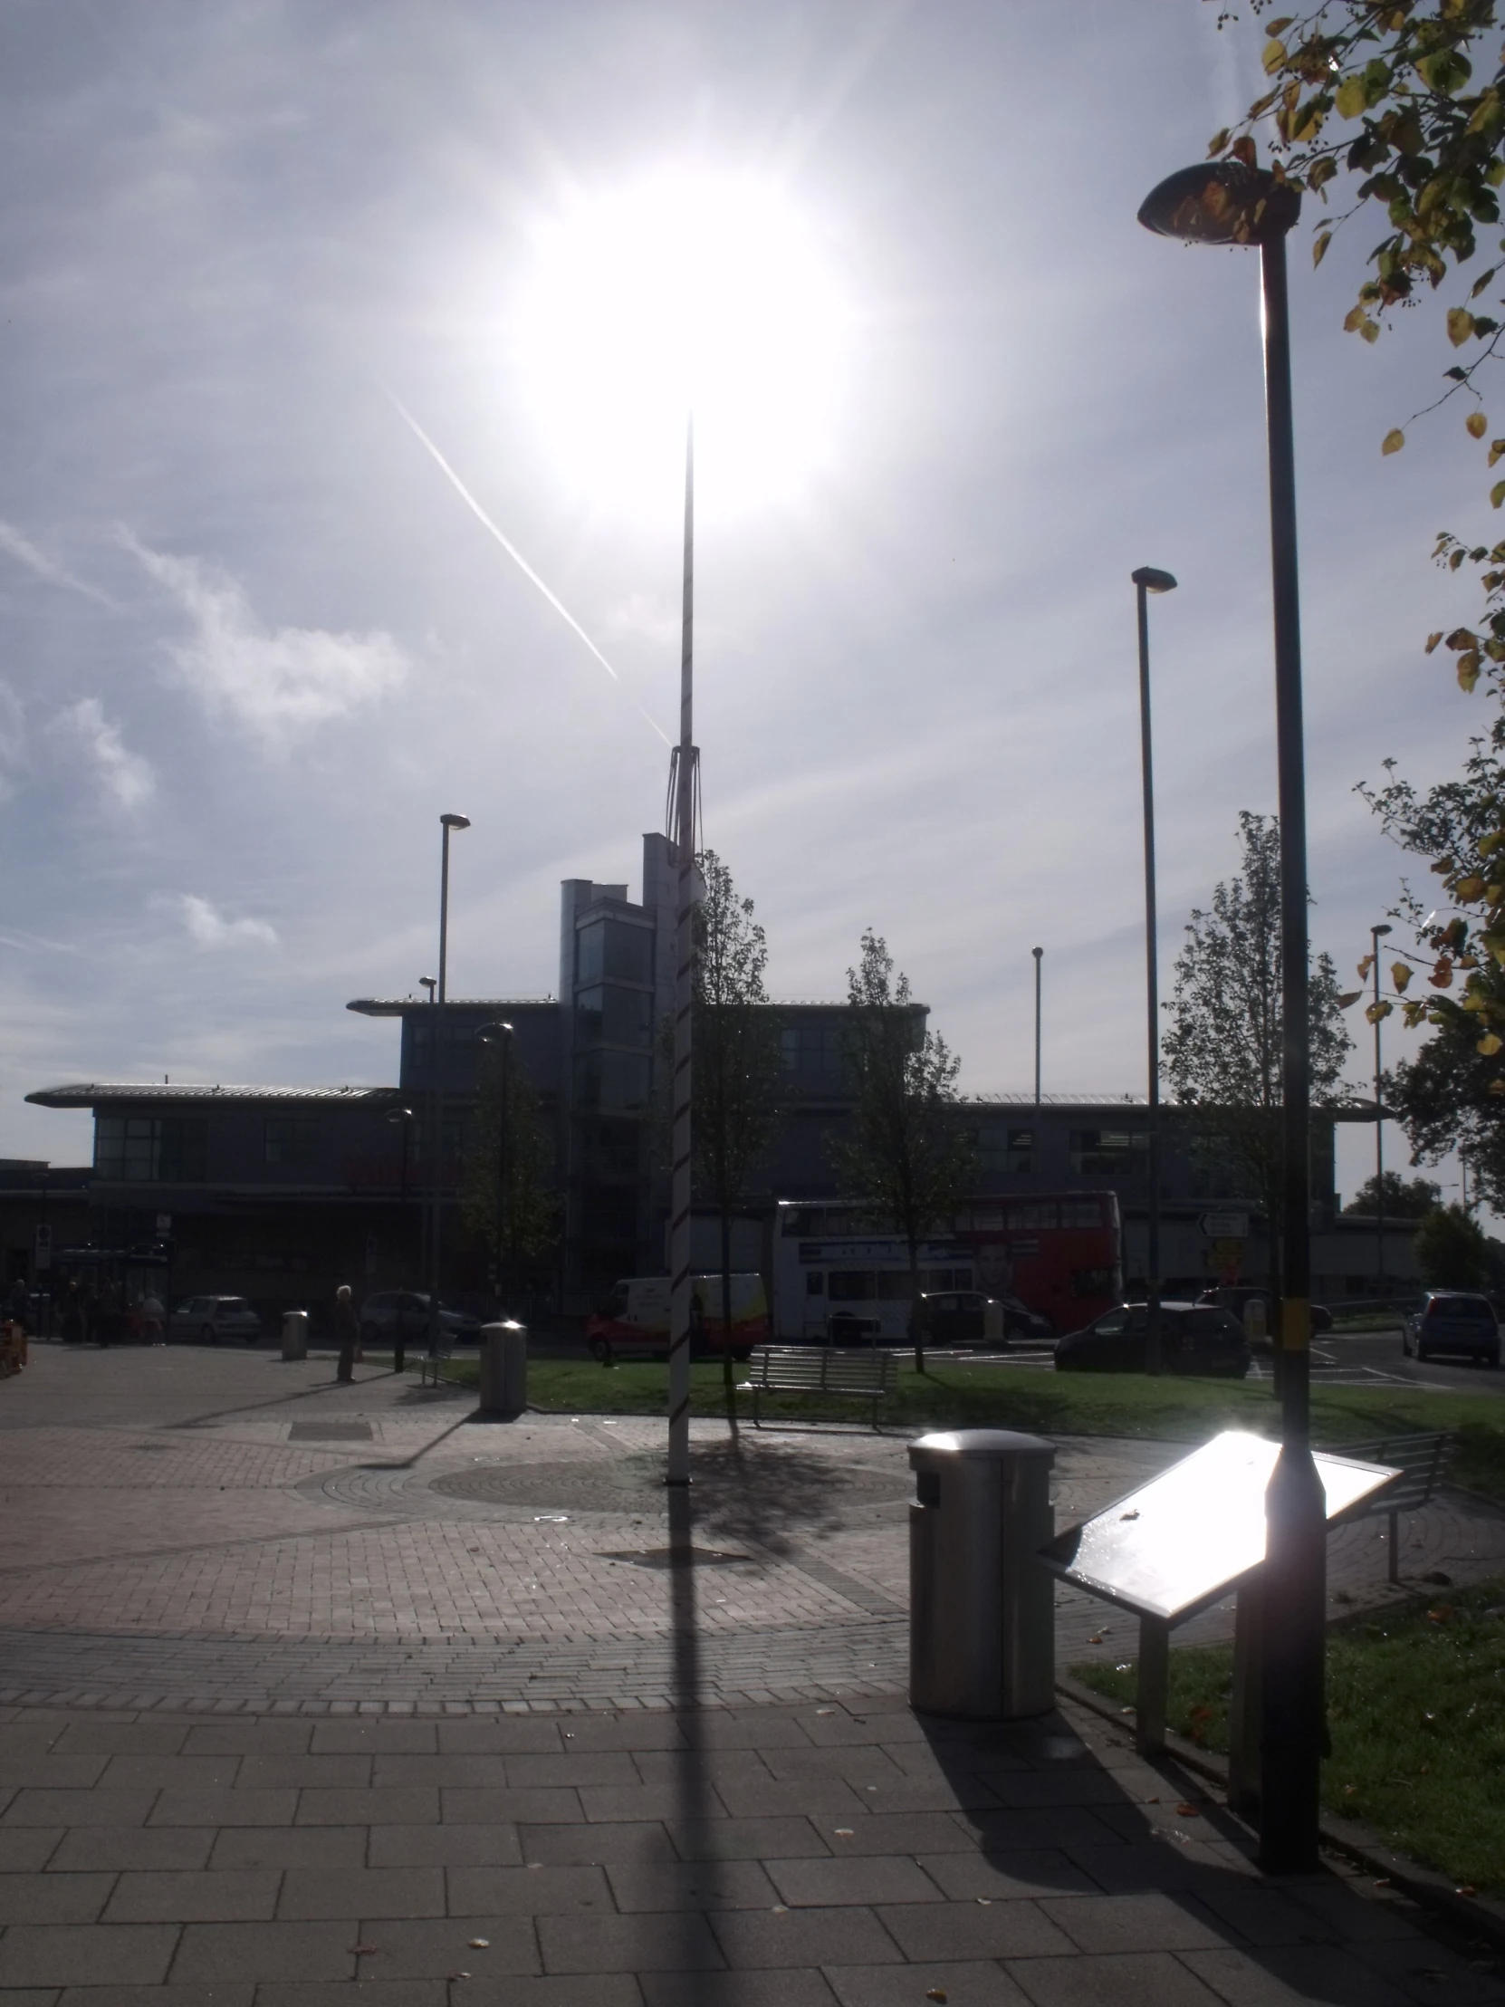
[[[6,2007],[1505,2001],[1092,1716],[909,1714],[901,1441],[706,1423],[670,1569],[656,1425],[470,1413],[229,1351],[0,1389]],[[1172,1453],[1066,1445],[1058,1519]],[[1118,1622],[1064,1600],[1062,1656]]]

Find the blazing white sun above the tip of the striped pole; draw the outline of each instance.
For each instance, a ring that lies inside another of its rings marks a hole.
[[[666,173],[540,223],[514,353],[568,480],[634,506],[684,460],[718,508],[797,492],[825,458],[849,315],[769,183]]]

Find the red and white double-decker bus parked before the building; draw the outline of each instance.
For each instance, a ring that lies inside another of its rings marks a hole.
[[[871,1232],[853,1202],[781,1198],[773,1228],[773,1329],[825,1339],[833,1317],[857,1317],[881,1343],[909,1327],[909,1250]],[[923,1291],[979,1288],[1017,1297],[1058,1333],[1076,1331],[1124,1295],[1116,1192],[973,1198],[943,1234],[919,1246]]]

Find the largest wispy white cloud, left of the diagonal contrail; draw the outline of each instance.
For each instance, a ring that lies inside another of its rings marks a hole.
[[[193,622],[193,636],[171,648],[183,680],[211,710],[229,712],[269,743],[341,719],[407,674],[403,648],[381,628],[269,630],[219,566],[148,550],[128,530],[120,530],[120,542]]]

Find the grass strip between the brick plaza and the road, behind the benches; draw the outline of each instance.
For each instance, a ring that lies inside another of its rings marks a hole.
[[[411,1357],[411,1355],[409,1355]],[[417,1363],[411,1363],[417,1371]],[[445,1375],[474,1387],[480,1367],[456,1359]],[[740,1377],[740,1375],[738,1375]],[[668,1367],[644,1361],[600,1367],[594,1359],[532,1359],[528,1401],[564,1415],[662,1415]],[[692,1411],[724,1413],[720,1363],[690,1369]],[[750,1419],[748,1395],[738,1413]],[[859,1401],[769,1395],[771,1421],[863,1421]],[[899,1383],[883,1407],[893,1427],[1029,1429],[1039,1435],[1130,1435],[1166,1443],[1204,1443],[1220,1429],[1274,1435],[1280,1411],[1268,1381],[1150,1379],[1144,1373],[1056,1373],[1035,1367],[935,1365],[915,1373],[905,1355]],[[1505,1399],[1429,1393],[1423,1387],[1312,1387],[1312,1439],[1328,1447],[1403,1429],[1453,1429],[1455,1483],[1505,1501]]]

